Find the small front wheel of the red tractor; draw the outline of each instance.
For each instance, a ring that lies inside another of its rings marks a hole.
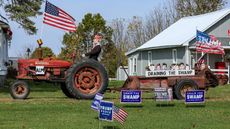
[[[26,99],[29,93],[30,88],[24,81],[16,81],[10,86],[10,95],[13,99]]]

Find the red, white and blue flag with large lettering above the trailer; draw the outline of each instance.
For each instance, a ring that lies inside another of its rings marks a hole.
[[[221,42],[214,35],[198,31],[196,34],[196,51],[212,54],[224,54]]]

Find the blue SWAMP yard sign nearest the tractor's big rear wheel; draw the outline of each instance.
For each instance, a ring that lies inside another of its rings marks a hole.
[[[122,90],[121,103],[141,103],[141,90]]]

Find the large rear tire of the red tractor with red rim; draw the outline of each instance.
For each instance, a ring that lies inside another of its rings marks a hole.
[[[92,59],[75,63],[67,71],[66,88],[74,98],[93,99],[106,90],[108,82],[103,65]]]

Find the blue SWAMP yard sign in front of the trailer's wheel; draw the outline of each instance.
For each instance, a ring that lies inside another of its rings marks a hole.
[[[186,103],[203,103],[204,102],[204,90],[186,91],[185,102]]]

